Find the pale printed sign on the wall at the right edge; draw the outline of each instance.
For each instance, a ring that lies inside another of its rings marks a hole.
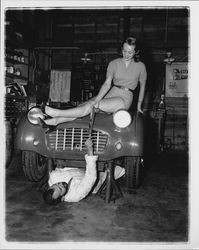
[[[166,97],[188,96],[188,63],[166,65]]]

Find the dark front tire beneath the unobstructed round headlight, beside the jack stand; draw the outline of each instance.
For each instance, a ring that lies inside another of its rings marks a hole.
[[[134,192],[140,185],[141,177],[141,157],[125,157],[126,186],[129,193]]]

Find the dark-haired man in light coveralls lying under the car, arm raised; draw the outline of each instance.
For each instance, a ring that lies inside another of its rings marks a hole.
[[[78,202],[85,198],[90,191],[97,193],[106,179],[106,171],[99,173],[97,178],[96,161],[98,155],[93,155],[93,144],[90,138],[85,142],[87,154],[85,155],[86,170],[78,168],[56,168],[49,175],[48,189],[44,191],[44,201],[49,205],[56,205],[62,201]],[[119,179],[125,169],[115,167],[115,179]]]

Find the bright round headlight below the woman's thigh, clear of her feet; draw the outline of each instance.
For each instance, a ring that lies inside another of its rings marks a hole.
[[[113,122],[118,128],[126,128],[131,124],[131,115],[126,110],[118,110],[113,114]]]

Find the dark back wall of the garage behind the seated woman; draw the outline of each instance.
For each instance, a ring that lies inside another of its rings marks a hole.
[[[189,61],[189,9],[8,9],[6,47],[28,50],[29,101],[49,101],[52,70],[70,71],[70,100],[77,105],[94,96],[105,78],[109,61],[120,54],[120,44],[135,36],[142,48],[148,80],[144,110],[159,122],[161,95],[166,88],[167,52],[175,62]],[[167,97],[164,149],[188,148],[188,93]],[[64,106],[67,103],[53,103]]]

